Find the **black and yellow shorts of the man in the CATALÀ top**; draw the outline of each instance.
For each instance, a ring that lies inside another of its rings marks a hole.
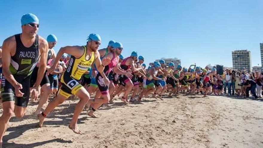
[[[79,84],[79,80],[74,79],[68,73],[63,73],[61,76],[60,82],[62,83],[62,87],[59,90],[59,94],[64,97],[70,97],[71,94],[76,95],[76,93],[81,89],[83,86]]]

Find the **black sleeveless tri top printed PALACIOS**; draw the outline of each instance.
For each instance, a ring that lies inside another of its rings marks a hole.
[[[36,67],[39,59],[39,37],[36,35],[36,40],[29,48],[25,47],[20,39],[20,34],[15,35],[16,38],[16,53],[11,57],[9,69],[13,75],[28,76]]]

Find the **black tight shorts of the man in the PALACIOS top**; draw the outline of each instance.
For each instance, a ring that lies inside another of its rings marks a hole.
[[[14,75],[14,78],[23,86],[23,89],[20,90],[24,93],[23,97],[16,97],[15,88],[3,76],[1,84],[1,100],[2,102],[15,101],[16,106],[27,107],[30,95],[30,76]]]

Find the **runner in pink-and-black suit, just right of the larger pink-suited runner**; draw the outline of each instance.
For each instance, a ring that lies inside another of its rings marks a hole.
[[[137,52],[133,51],[130,57],[123,59],[123,61],[121,62],[121,65],[120,65],[121,69],[123,69],[124,71],[129,71],[131,69],[133,73],[138,72],[141,69],[143,69],[142,67],[140,68],[135,67],[135,62],[137,61],[137,57],[138,57]],[[125,104],[128,104],[127,96],[129,92],[132,90],[134,85],[132,83],[132,80],[125,75],[120,75],[119,79],[120,79],[120,83],[126,86],[126,90],[121,100]]]

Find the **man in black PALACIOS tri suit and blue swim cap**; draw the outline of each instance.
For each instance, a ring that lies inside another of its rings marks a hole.
[[[15,113],[17,118],[25,114],[30,94],[30,76],[40,58],[36,83],[31,96],[37,98],[38,87],[44,76],[47,63],[48,42],[37,34],[39,19],[32,13],[21,18],[22,33],[4,40],[3,81],[1,99],[3,114],[0,117],[0,147],[9,119]]]

